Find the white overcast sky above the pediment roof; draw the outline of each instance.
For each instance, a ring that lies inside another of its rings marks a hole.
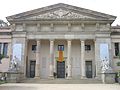
[[[0,19],[6,20],[5,17],[10,15],[57,3],[70,4],[117,16],[113,25],[120,25],[120,0],[1,0]]]

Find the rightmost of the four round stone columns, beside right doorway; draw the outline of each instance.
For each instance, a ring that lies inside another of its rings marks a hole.
[[[85,41],[81,40],[81,78],[85,76]]]

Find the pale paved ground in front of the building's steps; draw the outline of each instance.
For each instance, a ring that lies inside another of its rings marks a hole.
[[[26,84],[7,83],[0,90],[120,90],[119,84]]]

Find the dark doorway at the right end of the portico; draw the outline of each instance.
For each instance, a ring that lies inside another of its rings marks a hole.
[[[86,61],[86,77],[92,78],[92,61]]]

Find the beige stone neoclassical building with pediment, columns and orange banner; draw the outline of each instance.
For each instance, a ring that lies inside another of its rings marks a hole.
[[[28,78],[95,78],[103,60],[116,72],[120,26],[111,26],[115,19],[63,3],[8,16],[11,27],[3,32],[10,35],[0,34],[0,43],[8,43],[4,59],[9,66],[17,58]]]

